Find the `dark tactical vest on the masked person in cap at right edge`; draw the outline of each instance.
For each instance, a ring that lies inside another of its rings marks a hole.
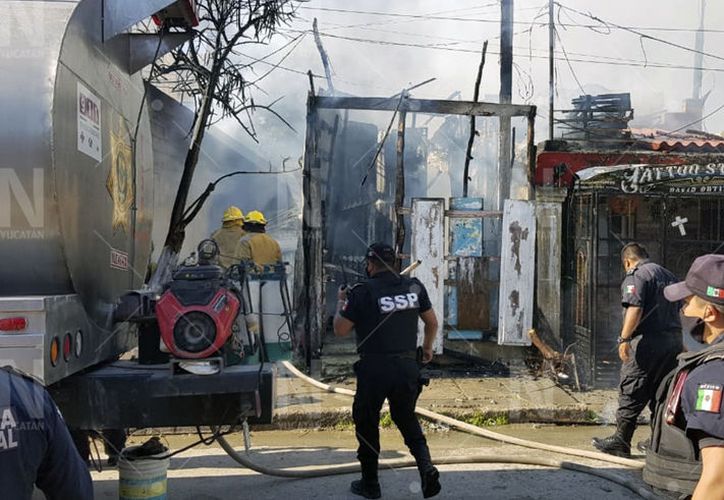
[[[691,495],[699,482],[699,449],[696,443],[686,436],[686,421],[681,412],[681,401],[675,397],[676,381],[679,380],[680,373],[688,374],[697,366],[716,359],[724,359],[722,343],[701,351],[680,354],[679,366],[666,375],[659,386],[651,446],[646,450],[646,465],[643,470],[644,481],[654,488]]]

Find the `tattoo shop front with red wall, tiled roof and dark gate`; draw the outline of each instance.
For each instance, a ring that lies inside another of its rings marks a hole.
[[[621,248],[642,243],[682,279],[695,257],[724,253],[724,138],[575,124],[585,137],[539,147],[536,193],[560,204],[561,343],[582,380],[605,387],[620,366]]]

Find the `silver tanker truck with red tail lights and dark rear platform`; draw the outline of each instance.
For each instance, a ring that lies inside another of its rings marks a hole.
[[[179,372],[158,356],[160,297],[144,288],[193,113],[141,73],[193,36],[193,0],[0,0],[0,13],[0,366],[48,386],[73,428],[269,421],[273,367]],[[152,18],[180,29],[132,32]],[[180,279],[216,283],[214,307],[233,315],[212,267]]]

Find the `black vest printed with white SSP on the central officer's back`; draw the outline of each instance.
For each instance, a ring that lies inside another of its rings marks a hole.
[[[400,354],[417,348],[420,316],[419,282],[405,276],[384,273],[364,285],[368,316],[355,326],[357,352]]]

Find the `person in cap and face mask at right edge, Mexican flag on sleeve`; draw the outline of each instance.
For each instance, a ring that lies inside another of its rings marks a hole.
[[[659,389],[644,480],[694,500],[724,498],[724,255],[697,258],[664,294],[683,301],[705,347],[680,355]]]

